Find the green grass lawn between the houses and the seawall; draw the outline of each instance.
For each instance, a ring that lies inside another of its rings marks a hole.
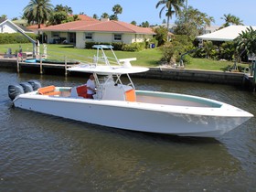
[[[7,48],[12,48],[12,52],[15,53],[16,50],[21,46],[23,52],[32,52],[32,44],[1,44],[0,53],[5,53]],[[48,44],[47,45],[48,59],[76,59],[81,61],[89,61],[88,57],[93,57],[96,54],[95,49],[80,49],[72,48],[67,45],[57,45]],[[43,53],[43,46],[40,45],[40,53]],[[108,56],[110,51],[106,51]],[[133,66],[144,66],[144,67],[158,67],[159,60],[162,57],[162,53],[158,48],[145,49],[140,52],[127,52],[127,51],[115,51],[118,59],[125,58],[137,58],[137,60],[132,61]],[[211,59],[191,59],[191,63],[186,65],[186,69],[206,69],[206,70],[225,70],[229,66],[232,66],[233,62],[229,61],[219,61]],[[242,68],[248,67],[248,64],[240,64]]]

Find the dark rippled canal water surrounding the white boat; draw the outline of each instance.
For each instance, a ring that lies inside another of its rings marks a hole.
[[[255,118],[216,139],[114,130],[14,108],[7,86],[27,80],[43,86],[86,81],[0,70],[0,191],[255,191]],[[256,115],[256,95],[237,87],[133,83],[228,102]]]

